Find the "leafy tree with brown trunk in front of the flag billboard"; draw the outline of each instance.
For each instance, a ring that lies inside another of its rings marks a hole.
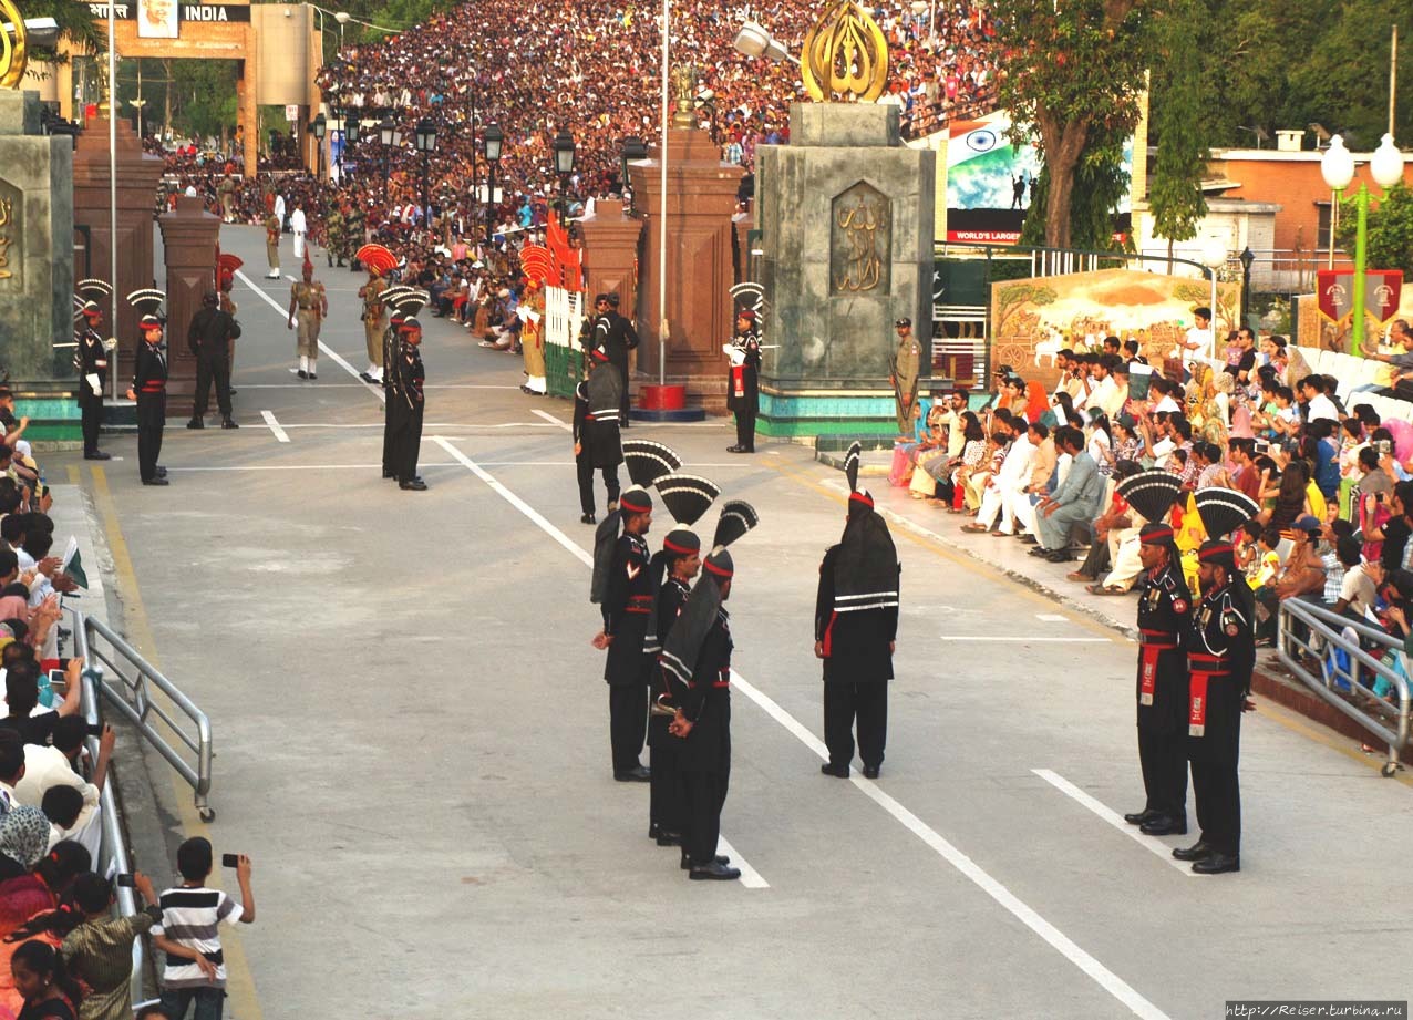
[[[1012,140],[1031,130],[1044,158],[1044,243],[1072,246],[1071,202],[1094,140],[1133,130],[1147,66],[1154,0],[995,0],[1000,105]],[[1088,164],[1104,170],[1104,162]],[[1105,246],[1108,247],[1108,246]]]

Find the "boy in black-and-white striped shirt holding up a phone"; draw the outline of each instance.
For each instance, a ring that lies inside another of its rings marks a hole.
[[[220,1020],[226,997],[226,965],[220,951],[222,921],[250,924],[256,900],[250,891],[250,858],[240,855],[236,880],[240,903],[219,889],[208,889],[211,841],[195,836],[177,848],[177,870],[182,883],[161,894],[162,920],[153,925],[154,945],[167,954],[162,971],[162,1012],[170,1020],[185,1020],[195,1003],[192,1020]]]

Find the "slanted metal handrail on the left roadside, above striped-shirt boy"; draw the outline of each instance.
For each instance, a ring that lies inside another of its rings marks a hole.
[[[158,672],[151,663],[143,658],[133,646],[124,641],[106,623],[95,620],[92,616],[81,616],[79,619],[82,620],[83,639],[89,654],[103,663],[117,677],[117,681],[120,681],[120,684],[112,682],[100,674],[99,692],[146,737],[158,754],[167,759],[167,763],[177,770],[177,774],[187,780],[194,791],[201,819],[209,822],[216,817],[216,812],[206,802],[206,795],[211,793],[212,759],[211,720],[206,718],[206,713],[196,708],[191,698]],[[107,651],[95,646],[95,636],[102,637],[107,643]],[[181,709],[187,720],[195,728],[195,736],[148,696],[148,687],[155,687],[167,695],[167,699],[172,705]],[[154,715],[195,754],[195,767],[150,722],[150,718]]]

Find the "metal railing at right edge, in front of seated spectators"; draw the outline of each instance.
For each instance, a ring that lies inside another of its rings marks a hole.
[[[1300,599],[1280,603],[1277,623],[1276,653],[1284,667],[1325,702],[1383,740],[1389,749],[1383,774],[1393,776],[1409,743],[1409,658],[1403,641],[1369,623]],[[1303,633],[1293,623],[1303,624]],[[1344,636],[1347,627],[1355,633],[1354,640]],[[1385,665],[1381,660],[1388,653],[1375,658],[1362,643],[1392,651],[1397,665]],[[1338,661],[1337,650],[1345,653],[1345,663]],[[1306,657],[1320,664],[1318,675],[1301,661]],[[1389,688],[1385,695],[1392,694],[1392,698],[1375,694],[1373,685],[1379,681]]]

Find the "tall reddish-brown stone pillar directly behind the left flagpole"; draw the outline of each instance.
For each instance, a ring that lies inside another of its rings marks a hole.
[[[107,121],[95,117],[78,137],[73,151],[73,222],[89,233],[89,271],[113,284],[117,294],[117,322],[107,329],[117,338],[117,363],[109,372],[123,393],[133,374],[133,352],[141,343],[137,312],[124,300],[155,280],[153,256],[153,210],[162,161],[143,153],[143,143],[127,120],[117,121],[117,278],[110,266],[112,222],[109,205]],[[105,308],[105,321],[110,316]]]

